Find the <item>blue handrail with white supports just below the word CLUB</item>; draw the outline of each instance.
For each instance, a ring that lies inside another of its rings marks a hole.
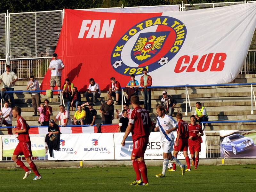
[[[189,109],[190,112],[192,112],[192,108],[190,105],[190,100],[189,100],[189,93],[188,93],[188,87],[212,87],[212,86],[237,86],[237,85],[250,85],[251,86],[251,104],[252,104],[252,110],[251,114],[253,114],[253,101],[254,100],[254,105],[255,105],[255,110],[256,110],[256,100],[255,100],[255,94],[254,94],[254,89],[252,85],[256,85],[256,83],[236,83],[236,84],[208,84],[208,85],[173,85],[173,86],[150,86],[148,88],[150,89],[157,89],[157,88],[174,88],[174,87],[185,87],[185,95],[186,95],[186,112],[185,115],[188,115],[188,104],[189,104]],[[143,89],[143,87],[139,87],[140,89]],[[124,89],[125,87],[121,87],[121,93],[122,93],[122,110],[123,110],[123,104],[124,101],[126,100],[124,96]]]

